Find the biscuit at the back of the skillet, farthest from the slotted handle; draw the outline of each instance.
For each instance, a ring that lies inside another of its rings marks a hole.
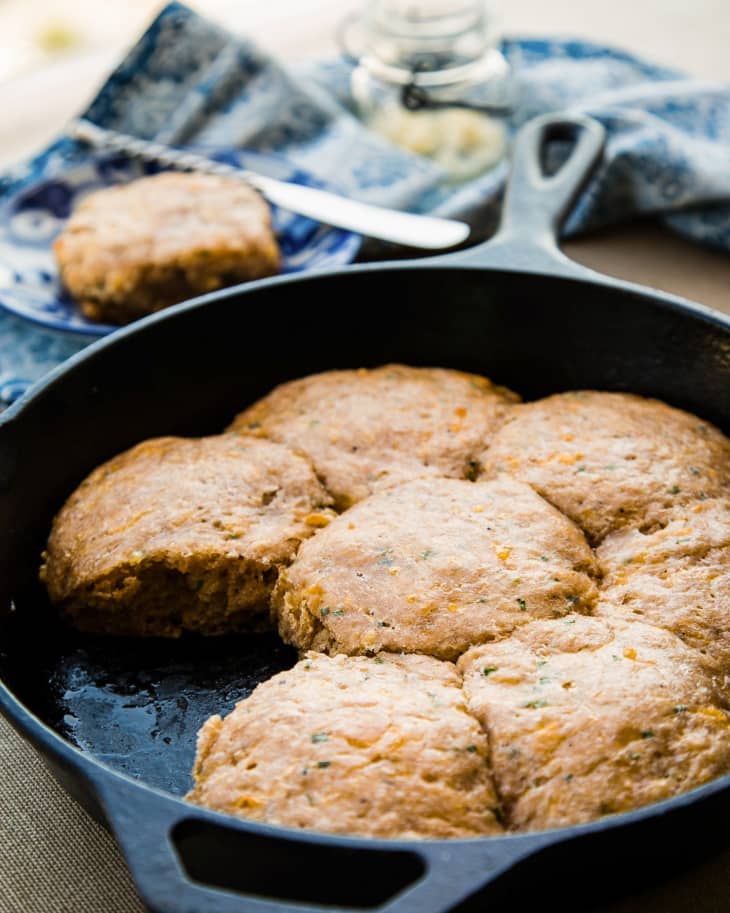
[[[232,429],[306,453],[344,509],[411,479],[474,477],[484,442],[518,399],[476,374],[385,365],[282,384]]]

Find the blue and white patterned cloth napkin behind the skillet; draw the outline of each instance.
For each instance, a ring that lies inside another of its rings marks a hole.
[[[509,127],[547,111],[580,111],[608,131],[604,162],[564,234],[652,214],[698,242],[730,250],[730,86],[700,82],[600,45],[509,39],[502,48],[518,102]],[[506,166],[455,187],[354,116],[349,65],[285,69],[245,38],[179,3],[166,6],[85,112],[105,127],[172,145],[274,152],[353,197],[493,228]],[[0,201],[82,161],[61,137],[0,176]],[[377,257],[377,247],[366,248]],[[0,313],[0,399],[7,403],[89,342]]]

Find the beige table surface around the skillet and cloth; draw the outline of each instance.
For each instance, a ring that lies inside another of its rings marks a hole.
[[[30,2],[68,11],[90,0]],[[254,35],[282,55],[320,53],[327,36],[356,4],[346,0],[209,0],[192,4]],[[115,6],[117,15],[120,5]],[[40,148],[93,93],[154,4],[135,0],[100,50],[0,82],[0,167]],[[730,80],[730,0],[504,0],[512,32],[572,33],[621,44],[695,76]],[[0,2],[0,54],[3,36]],[[304,10],[306,9],[306,14]],[[120,24],[121,23],[121,24]],[[730,154],[728,157],[730,167]],[[567,245],[577,260],[616,276],[694,298],[730,313],[730,257],[703,250],[652,225],[634,225]],[[58,787],[35,752],[0,720],[0,913],[141,913],[124,863],[109,835]],[[602,913],[727,913],[730,849],[661,887]],[[202,911],[201,911],[202,913]]]

